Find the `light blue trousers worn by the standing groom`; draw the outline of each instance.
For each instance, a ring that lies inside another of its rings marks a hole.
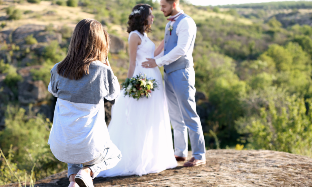
[[[179,157],[188,156],[189,134],[193,157],[206,160],[202,125],[196,112],[194,68],[164,72],[163,79],[173,127],[174,154]]]

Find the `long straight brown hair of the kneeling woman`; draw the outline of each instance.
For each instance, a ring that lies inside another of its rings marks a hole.
[[[64,60],[57,73],[69,79],[81,79],[89,74],[90,63],[105,63],[110,50],[110,37],[99,21],[83,19],[76,25]]]

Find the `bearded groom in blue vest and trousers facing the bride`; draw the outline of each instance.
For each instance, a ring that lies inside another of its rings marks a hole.
[[[163,52],[160,58],[142,63],[144,68],[164,67],[165,91],[174,135],[174,154],[177,161],[185,161],[188,156],[188,134],[193,157],[183,166],[206,164],[206,147],[202,125],[196,112],[195,72],[193,68],[193,48],[196,24],[179,7],[179,0],[161,0],[161,11],[170,16],[165,30]]]

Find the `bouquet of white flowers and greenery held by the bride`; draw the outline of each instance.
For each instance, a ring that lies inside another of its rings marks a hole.
[[[121,84],[124,89],[124,95],[138,99],[140,97],[151,97],[151,92],[158,88],[157,81],[155,79],[147,79],[146,75],[141,73],[136,77],[127,78],[124,83]]]

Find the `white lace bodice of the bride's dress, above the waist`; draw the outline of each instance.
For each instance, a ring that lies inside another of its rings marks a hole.
[[[130,36],[136,33],[141,38],[141,44],[138,45],[137,55],[135,64],[136,66],[141,66],[141,64],[147,61],[146,58],[154,58],[155,44],[147,37],[147,34],[144,32],[142,35],[139,31],[134,30],[129,33],[128,41],[130,40]]]

